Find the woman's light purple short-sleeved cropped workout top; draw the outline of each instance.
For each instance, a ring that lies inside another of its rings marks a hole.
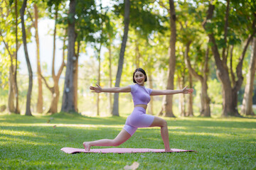
[[[139,84],[129,85],[131,86],[132,100],[134,101],[134,106],[139,104],[147,105],[150,101],[150,94],[152,89],[145,88],[144,86],[139,86]]]

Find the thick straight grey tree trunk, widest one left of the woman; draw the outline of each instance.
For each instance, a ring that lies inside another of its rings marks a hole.
[[[61,111],[75,112],[74,101],[74,74],[75,74],[75,0],[70,0],[70,11],[68,21],[68,62],[65,73],[65,84],[63,89],[63,102]]]

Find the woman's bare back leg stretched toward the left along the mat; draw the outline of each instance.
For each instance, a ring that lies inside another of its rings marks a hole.
[[[108,140],[108,139],[103,139],[103,140],[95,140],[92,142],[83,142],[82,145],[85,147],[86,151],[90,151],[90,147],[92,146],[119,146],[125,141],[129,140],[131,135],[126,130],[121,130],[117,137],[114,138],[114,140]]]

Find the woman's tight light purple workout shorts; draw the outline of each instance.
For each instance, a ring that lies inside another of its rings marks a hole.
[[[126,130],[129,135],[134,135],[137,128],[149,127],[154,121],[154,115],[147,115],[146,110],[142,107],[135,107],[132,114],[127,117],[124,125],[124,130]]]

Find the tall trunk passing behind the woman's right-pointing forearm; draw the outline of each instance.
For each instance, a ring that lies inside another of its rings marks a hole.
[[[176,13],[174,7],[174,0],[169,0],[170,6],[170,26],[171,26],[171,38],[170,38],[170,46],[168,50],[169,55],[169,74],[168,74],[168,83],[166,89],[174,89],[174,73],[176,66],[176,55],[175,55],[175,46],[176,46]],[[173,106],[173,96],[167,95],[164,101],[164,106],[162,106],[162,110],[164,111],[163,115],[166,117],[175,118],[175,115],[172,110]]]

